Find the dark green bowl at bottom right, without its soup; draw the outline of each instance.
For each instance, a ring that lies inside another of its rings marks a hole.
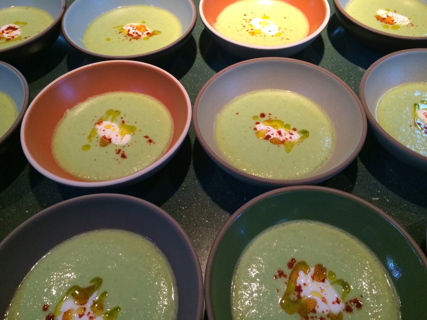
[[[366,244],[390,274],[400,298],[402,319],[422,318],[427,291],[421,284],[427,283],[427,259],[411,236],[389,215],[354,195],[319,186],[292,186],[252,199],[219,231],[205,274],[210,320],[232,319],[231,280],[249,242],[263,230],[292,220],[330,224]]]

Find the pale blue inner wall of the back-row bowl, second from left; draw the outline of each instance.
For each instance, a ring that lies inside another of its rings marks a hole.
[[[195,15],[191,0],[76,0],[65,12],[63,30],[78,47],[85,49],[83,34],[88,25],[102,13],[120,6],[157,6],[172,12],[181,22],[183,34],[190,29]]]

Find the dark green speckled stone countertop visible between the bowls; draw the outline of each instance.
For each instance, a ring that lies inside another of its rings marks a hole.
[[[67,0],[67,5],[71,2]],[[199,0],[195,3],[198,8]],[[332,0],[329,3],[331,18],[327,28],[310,47],[292,58],[335,73],[358,94],[365,70],[386,53],[363,47],[345,32],[334,14]],[[192,37],[175,58],[161,67],[181,81],[193,103],[211,76],[239,61],[213,43],[198,17]],[[33,99],[58,76],[91,62],[60,36],[40,58],[16,67],[26,77]],[[357,159],[320,185],[350,192],[384,210],[425,253],[426,181],[426,173],[392,157],[369,130]],[[63,200],[98,192],[122,193],[150,201],[172,215],[192,239],[204,272],[213,240],[228,217],[266,191],[219,169],[203,151],[193,126],[178,154],[164,169],[148,180],[121,189],[87,190],[58,185],[29,165],[17,139],[15,149],[0,158],[0,240],[27,218]]]

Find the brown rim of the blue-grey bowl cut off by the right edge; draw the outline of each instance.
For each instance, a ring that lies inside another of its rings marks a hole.
[[[374,126],[374,128],[380,132],[380,134],[385,137],[389,142],[391,142],[393,145],[395,145],[396,147],[398,147],[399,149],[401,149],[402,151],[404,151],[407,154],[410,154],[412,157],[417,158],[418,160],[423,161],[424,163],[427,164],[427,157],[411,150],[410,148],[408,148],[407,146],[403,145],[402,143],[400,143],[398,140],[396,140],[395,138],[393,138],[390,134],[388,134],[383,127],[380,126],[380,124],[377,122],[377,120],[375,120],[374,116],[372,115],[371,111],[369,110],[368,105],[366,104],[366,99],[365,99],[365,85],[366,85],[366,80],[368,79],[369,75],[371,74],[372,70],[374,70],[375,67],[377,67],[378,64],[380,64],[381,62],[383,62],[384,60],[395,56],[395,55],[399,55],[399,54],[404,54],[406,52],[416,52],[416,51],[424,51],[427,55],[427,48],[418,48],[418,49],[406,49],[406,50],[401,50],[401,51],[396,51],[393,53],[390,53],[389,55],[385,55],[382,58],[378,59],[377,61],[375,61],[369,68],[368,70],[366,70],[365,74],[363,75],[362,81],[360,81],[360,89],[359,89],[359,95],[360,95],[360,101],[362,102],[363,108],[365,109],[365,113],[366,116],[369,119],[369,122],[371,123],[371,125]],[[380,93],[379,93],[380,94]],[[393,154],[394,155],[394,154]]]

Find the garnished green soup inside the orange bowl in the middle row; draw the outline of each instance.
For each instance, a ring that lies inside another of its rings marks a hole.
[[[170,145],[172,117],[140,93],[94,96],[67,111],[52,139],[64,171],[83,180],[126,177],[158,160]]]

